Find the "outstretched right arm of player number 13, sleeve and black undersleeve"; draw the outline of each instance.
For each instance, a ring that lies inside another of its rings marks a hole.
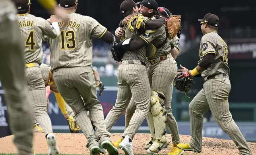
[[[85,16],[85,17],[87,21],[86,24],[89,25],[87,26],[89,28],[88,30],[89,34],[103,40],[106,43],[113,43],[116,41],[115,36],[111,32],[109,32],[107,28],[102,26],[99,22],[97,22],[92,17],[89,17],[89,16]]]

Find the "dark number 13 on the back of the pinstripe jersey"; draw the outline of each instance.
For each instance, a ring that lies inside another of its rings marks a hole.
[[[60,31],[61,49],[74,49],[76,48],[76,33],[72,30]],[[67,42],[66,42],[67,39]]]

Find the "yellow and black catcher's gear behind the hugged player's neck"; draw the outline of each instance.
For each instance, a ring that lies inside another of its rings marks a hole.
[[[142,13],[134,15],[133,17],[131,17],[131,19],[127,23],[128,29],[132,32],[132,34],[137,34],[137,30],[142,25],[142,22],[143,22]]]

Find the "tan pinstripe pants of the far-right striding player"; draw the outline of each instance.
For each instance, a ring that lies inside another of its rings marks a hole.
[[[210,109],[221,129],[235,142],[240,151],[240,155],[252,155],[248,143],[229,112],[228,98],[231,85],[229,78],[223,78],[222,75],[223,74],[218,74],[215,79],[206,80],[203,89],[189,104],[192,136],[190,146],[197,152],[202,151],[203,114]]]

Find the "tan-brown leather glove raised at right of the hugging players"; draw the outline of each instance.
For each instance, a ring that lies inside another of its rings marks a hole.
[[[173,39],[181,29],[181,16],[171,15],[166,26],[169,33],[169,39]]]

